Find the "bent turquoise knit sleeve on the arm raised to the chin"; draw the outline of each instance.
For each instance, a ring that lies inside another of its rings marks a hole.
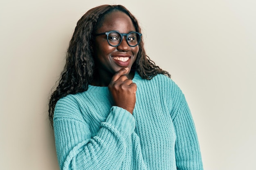
[[[61,170],[118,170],[135,129],[134,117],[113,106],[93,137],[89,123],[74,98],[67,96],[57,102],[54,135]]]

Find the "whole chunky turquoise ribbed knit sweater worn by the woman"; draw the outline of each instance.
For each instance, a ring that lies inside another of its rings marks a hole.
[[[202,170],[195,126],[180,88],[165,75],[135,73],[133,114],[113,106],[108,87],[58,100],[54,112],[61,170]]]

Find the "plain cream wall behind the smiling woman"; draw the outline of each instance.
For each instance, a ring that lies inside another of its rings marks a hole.
[[[138,18],[147,54],[185,94],[204,169],[254,169],[255,0],[1,0],[0,169],[58,170],[50,90],[76,22],[106,3]]]

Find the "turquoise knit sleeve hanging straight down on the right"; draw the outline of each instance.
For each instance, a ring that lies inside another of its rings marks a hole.
[[[178,170],[203,170],[195,125],[183,94],[180,100],[173,116],[177,137],[175,144],[176,166]]]

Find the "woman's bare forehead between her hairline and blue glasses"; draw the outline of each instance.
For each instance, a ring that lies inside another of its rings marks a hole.
[[[97,33],[119,31],[120,33],[128,33],[136,31],[131,18],[124,12],[113,11],[104,16],[101,26],[97,29]]]

